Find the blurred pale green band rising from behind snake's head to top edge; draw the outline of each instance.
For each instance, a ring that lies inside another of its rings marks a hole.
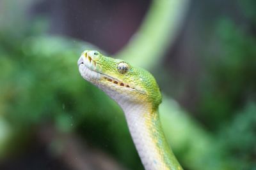
[[[116,56],[145,69],[156,66],[156,59],[159,63],[174,41],[188,4],[189,0],[154,0],[139,31]]]

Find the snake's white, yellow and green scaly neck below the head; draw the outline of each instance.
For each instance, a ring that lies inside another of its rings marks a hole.
[[[146,170],[181,170],[164,137],[158,110],[134,103],[120,104],[141,162]]]

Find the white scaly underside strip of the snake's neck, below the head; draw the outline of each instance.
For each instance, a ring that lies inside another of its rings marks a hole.
[[[160,156],[154,146],[155,141],[152,141],[150,129],[146,125],[148,117],[144,114],[149,114],[147,106],[131,103],[121,103],[120,106],[125,112],[129,131],[143,166],[146,170],[162,170],[163,162],[159,162]]]

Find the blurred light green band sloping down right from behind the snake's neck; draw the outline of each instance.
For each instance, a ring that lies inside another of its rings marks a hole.
[[[225,169],[228,160],[222,158],[223,150],[220,150],[216,139],[190,117],[176,101],[163,96],[159,112],[164,134],[173,150],[177,153],[186,152],[180,159],[177,155],[183,166],[203,170],[205,164],[212,164],[214,166],[208,166],[207,169]]]

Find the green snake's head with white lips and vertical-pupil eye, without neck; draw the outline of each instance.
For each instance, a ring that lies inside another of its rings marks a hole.
[[[102,89],[120,106],[126,103],[161,103],[161,92],[152,74],[120,59],[106,57],[98,51],[86,50],[78,62],[79,72],[87,81]]]

